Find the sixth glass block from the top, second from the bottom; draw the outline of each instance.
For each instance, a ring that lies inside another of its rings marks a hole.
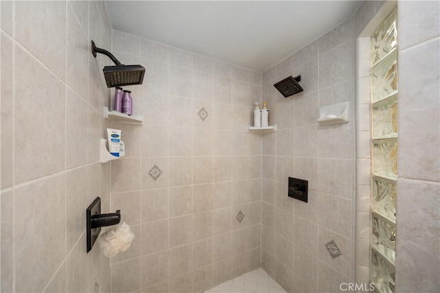
[[[373,213],[373,246],[388,259],[395,262],[396,226]]]

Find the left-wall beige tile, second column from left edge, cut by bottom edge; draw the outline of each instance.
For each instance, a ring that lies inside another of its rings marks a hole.
[[[21,280],[15,284],[19,292],[42,291],[65,259],[66,232],[60,224],[66,221],[65,185],[61,174],[14,191],[14,251],[19,252],[14,255],[14,272]],[[47,207],[52,213],[47,214]]]

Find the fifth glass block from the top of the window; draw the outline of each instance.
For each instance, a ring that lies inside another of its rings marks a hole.
[[[382,178],[373,177],[373,211],[380,213],[391,222],[396,222],[396,184]]]

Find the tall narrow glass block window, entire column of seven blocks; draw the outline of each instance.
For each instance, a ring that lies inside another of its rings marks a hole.
[[[375,291],[394,292],[397,179],[397,8],[371,36],[371,261]]]

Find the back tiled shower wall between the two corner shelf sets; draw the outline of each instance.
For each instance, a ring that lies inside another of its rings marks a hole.
[[[122,63],[146,68],[144,84],[126,87],[144,125],[112,124],[126,156],[111,162],[111,209],[136,235],[111,259],[112,292],[201,292],[258,268],[261,134],[246,127],[261,73],[114,30],[112,40]]]

